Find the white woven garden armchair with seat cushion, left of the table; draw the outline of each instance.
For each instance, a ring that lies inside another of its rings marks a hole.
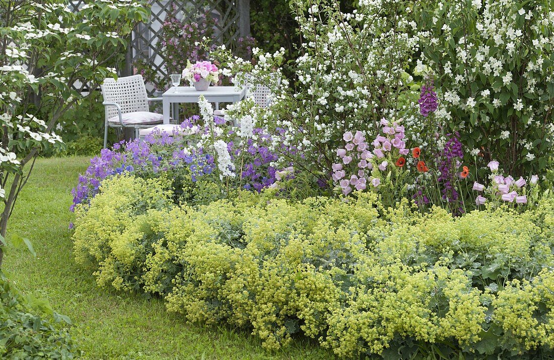
[[[139,130],[163,123],[163,115],[150,112],[148,101],[161,101],[161,97],[148,97],[141,75],[104,79],[100,85],[106,109],[104,148],[107,145],[108,128],[133,128],[135,137]]]

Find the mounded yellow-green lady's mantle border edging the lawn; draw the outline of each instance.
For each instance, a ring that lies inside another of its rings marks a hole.
[[[341,357],[554,356],[554,199],[459,218],[374,194],[172,199],[161,178],[105,180],[76,208],[76,260],[101,286],[159,294],[270,349],[302,331]]]

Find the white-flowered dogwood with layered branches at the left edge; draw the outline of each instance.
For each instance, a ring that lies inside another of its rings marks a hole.
[[[0,264],[9,216],[30,175],[25,166],[61,146],[53,132],[60,116],[82,90],[115,75],[106,65],[148,16],[136,1],[90,1],[76,13],[61,0],[0,2],[0,184],[9,184],[0,189]]]

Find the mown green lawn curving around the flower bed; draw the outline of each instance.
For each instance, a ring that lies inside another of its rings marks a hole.
[[[117,293],[96,286],[93,275],[73,260],[71,188],[86,158],[39,159],[19,197],[8,228],[28,237],[37,253],[6,257],[4,269],[18,288],[50,301],[68,315],[77,345],[89,359],[325,359],[334,358],[314,341],[295,339],[280,352],[266,352],[244,330],[225,325],[186,324],[168,314],[160,299]]]

